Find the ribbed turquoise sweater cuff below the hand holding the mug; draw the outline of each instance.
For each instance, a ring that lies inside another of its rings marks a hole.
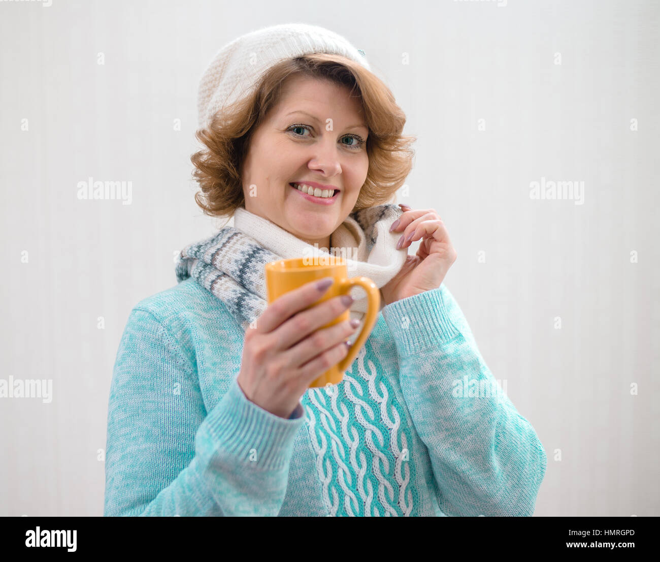
[[[304,420],[302,413],[296,419],[284,419],[251,402],[234,378],[205,422],[222,450],[245,460],[255,450],[259,468],[281,470],[288,466]]]

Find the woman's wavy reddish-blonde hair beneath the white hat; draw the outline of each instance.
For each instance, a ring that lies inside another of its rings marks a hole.
[[[331,80],[360,98],[369,129],[369,168],[353,211],[393,199],[413,168],[416,137],[402,135],[406,118],[389,88],[374,73],[341,55],[313,53],[269,67],[248,96],[223,108],[211,123],[195,133],[205,148],[191,156],[193,178],[199,183],[197,205],[205,215],[229,217],[244,206],[240,170],[253,131],[277,106],[286,79],[305,75]]]

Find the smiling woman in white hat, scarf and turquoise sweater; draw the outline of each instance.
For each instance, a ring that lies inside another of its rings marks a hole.
[[[104,513],[531,515],[545,451],[442,284],[440,217],[388,203],[414,139],[364,54],[304,24],[242,36],[205,72],[199,118],[195,198],[234,227],[182,250],[178,285],[131,311]],[[364,299],[314,304],[327,284],[309,283],[267,305],[263,265],[336,248],[381,311],[343,380],[308,388],[358,332],[321,326],[348,307],[359,321]]]

